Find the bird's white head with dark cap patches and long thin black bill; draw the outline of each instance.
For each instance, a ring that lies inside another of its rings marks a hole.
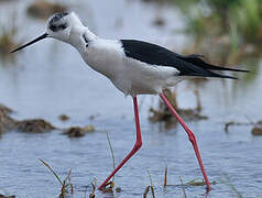
[[[81,26],[79,18],[74,12],[55,13],[47,20],[46,32],[35,40],[13,50],[11,53],[18,52],[29,45],[32,45],[46,37],[53,37],[65,43],[69,43],[70,32],[74,26]]]

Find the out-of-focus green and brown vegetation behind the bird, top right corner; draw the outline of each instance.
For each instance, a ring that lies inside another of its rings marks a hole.
[[[175,6],[185,15],[185,32],[194,36],[194,52],[197,46],[207,57],[216,54],[212,59],[219,64],[236,64],[243,56],[262,54],[260,0],[185,0]]]

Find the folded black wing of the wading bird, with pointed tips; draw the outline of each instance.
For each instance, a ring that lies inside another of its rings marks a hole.
[[[248,72],[210,65],[200,58],[201,55],[193,54],[183,56],[160,45],[142,41],[120,41],[122,43],[125,56],[151,65],[175,67],[177,70],[179,70],[179,76],[203,76],[236,79],[236,77],[216,74],[211,70]]]

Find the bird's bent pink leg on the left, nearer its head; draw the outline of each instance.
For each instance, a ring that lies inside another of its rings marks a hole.
[[[137,97],[133,97],[133,108],[134,108],[134,117],[135,117],[135,129],[137,129],[137,141],[134,143],[134,146],[132,151],[124,157],[124,160],[113,169],[113,172],[108,176],[108,178],[98,187],[98,189],[101,189],[106,186],[106,184],[109,182],[109,179],[139,151],[139,148],[142,146],[142,135],[139,124],[139,109],[138,109],[138,100]]]

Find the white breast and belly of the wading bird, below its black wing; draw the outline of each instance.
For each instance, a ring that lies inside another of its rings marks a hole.
[[[81,54],[91,68],[107,76],[124,95],[155,95],[182,80],[173,67],[152,66],[127,57],[118,41],[96,42]]]

